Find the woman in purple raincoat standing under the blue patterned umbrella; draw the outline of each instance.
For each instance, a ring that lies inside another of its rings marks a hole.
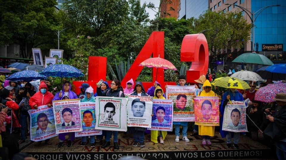
[[[63,83],[62,92],[57,92],[53,101],[54,100],[69,100],[69,99],[77,99],[77,94],[71,91],[71,83],[69,81],[65,81]],[[63,142],[66,140],[66,137],[65,137],[66,135],[69,135],[68,144],[67,144],[68,147],[72,146],[72,141],[74,140],[74,137],[75,137],[74,132],[60,133],[59,134],[60,143],[57,145],[59,148],[63,146]]]

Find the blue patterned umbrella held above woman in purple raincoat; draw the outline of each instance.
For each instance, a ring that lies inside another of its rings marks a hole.
[[[45,68],[39,74],[51,77],[80,77],[84,76],[84,74],[74,66],[67,64],[54,64]]]

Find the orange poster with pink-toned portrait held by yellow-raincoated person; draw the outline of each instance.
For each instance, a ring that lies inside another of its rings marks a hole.
[[[219,97],[195,97],[195,124],[201,126],[219,126]]]

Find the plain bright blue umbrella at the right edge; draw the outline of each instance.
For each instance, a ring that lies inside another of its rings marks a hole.
[[[286,79],[286,64],[264,66],[256,71],[263,79],[284,80]]]

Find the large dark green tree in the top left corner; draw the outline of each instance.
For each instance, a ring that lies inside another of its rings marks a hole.
[[[19,44],[21,57],[27,58],[27,44],[52,44],[54,0],[0,0],[0,4],[0,45]]]

